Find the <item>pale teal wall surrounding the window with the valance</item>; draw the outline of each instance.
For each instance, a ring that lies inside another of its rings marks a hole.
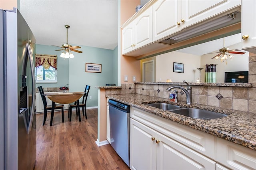
[[[42,87],[61,87],[65,86],[69,82],[69,59],[60,57],[61,51],[54,51],[60,49],[52,45],[40,45],[36,44],[37,54],[57,55],[57,83],[36,83],[36,87],[42,85]]]

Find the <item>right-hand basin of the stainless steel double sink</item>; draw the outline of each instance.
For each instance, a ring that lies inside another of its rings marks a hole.
[[[216,113],[212,111],[206,111],[206,110],[194,109],[194,108],[182,108],[178,110],[172,110],[171,112],[184,115],[187,117],[193,117],[193,118],[204,119],[204,120],[217,119],[220,117],[227,116],[222,113]]]

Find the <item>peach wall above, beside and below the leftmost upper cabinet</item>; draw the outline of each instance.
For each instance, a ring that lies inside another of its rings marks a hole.
[[[121,25],[124,24],[124,22],[126,22],[129,18],[131,18],[135,14],[135,8],[137,5],[140,5],[140,0],[121,0],[121,3],[120,3]],[[120,37],[122,38],[122,30],[121,30]],[[120,46],[122,48],[122,44],[120,44]],[[121,55],[120,65],[121,65],[121,69],[120,69],[121,84],[132,83],[133,75],[136,75],[136,81],[140,81],[140,60],[137,60],[135,57],[127,57],[127,56]],[[128,75],[128,82],[124,82],[124,75]]]

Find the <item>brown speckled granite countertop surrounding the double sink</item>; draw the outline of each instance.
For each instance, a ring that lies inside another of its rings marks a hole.
[[[185,102],[174,103],[168,99],[140,94],[106,95],[106,97],[256,150],[256,114],[254,113],[200,104],[187,105]],[[224,113],[228,116],[212,120],[194,119],[142,104],[144,102],[154,103],[155,101]]]

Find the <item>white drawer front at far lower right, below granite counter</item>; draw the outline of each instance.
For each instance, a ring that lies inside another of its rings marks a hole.
[[[216,160],[231,169],[256,169],[256,150],[217,138]]]

